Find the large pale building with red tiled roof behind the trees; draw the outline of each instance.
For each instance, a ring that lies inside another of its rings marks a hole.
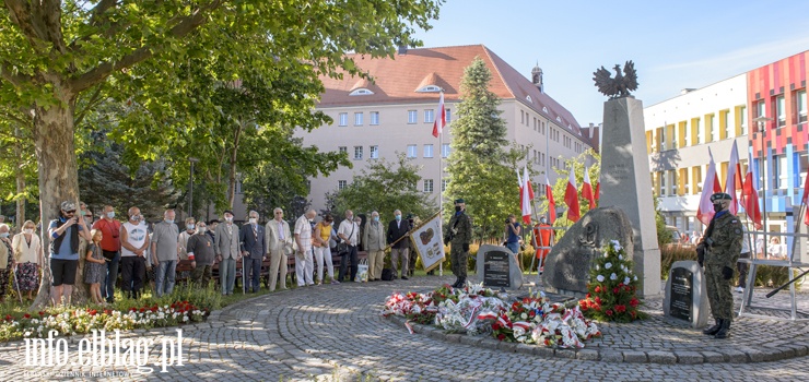
[[[449,154],[452,120],[462,97],[461,77],[476,57],[492,72],[490,91],[501,98],[506,139],[527,151],[535,181],[544,180],[544,171],[554,181],[553,167],[564,166],[563,158],[593,146],[594,135],[588,131],[584,136],[573,115],[542,91],[541,69],[535,68],[529,80],[483,45],[403,48],[392,59],[353,55],[357,67],[373,81],[348,74],[342,79],[321,77],[326,89],[317,109],[335,123],[297,133],[306,145],[344,151],[355,162],[353,169],[341,168],[329,177],[312,179],[313,207],[325,208],[325,193],[348,186],[367,160],[392,158],[397,153],[404,153],[422,167],[419,188],[437,201],[445,186],[438,166],[446,165],[439,155],[446,158]],[[441,91],[449,127],[439,140],[432,135],[432,128]]]

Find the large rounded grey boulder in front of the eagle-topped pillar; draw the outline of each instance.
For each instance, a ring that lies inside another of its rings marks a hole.
[[[551,249],[542,275],[546,290],[584,297],[595,256],[610,240],[618,240],[632,259],[634,232],[623,211],[602,207],[584,215]]]

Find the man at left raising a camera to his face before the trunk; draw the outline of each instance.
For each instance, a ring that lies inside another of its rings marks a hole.
[[[75,270],[79,265],[79,235],[92,241],[84,219],[75,215],[75,203],[65,201],[60,205],[59,218],[50,220],[50,300],[56,306],[65,297],[65,305],[70,305],[70,295],[75,283]]]

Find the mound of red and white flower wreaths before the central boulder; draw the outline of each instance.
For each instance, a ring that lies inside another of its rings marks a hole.
[[[402,315],[447,332],[468,335],[488,334],[499,341],[536,344],[548,347],[584,347],[601,336],[598,326],[584,318],[578,306],[551,303],[544,294],[531,294],[508,301],[482,284],[464,288],[444,285],[426,293],[396,293],[388,297],[382,314]]]

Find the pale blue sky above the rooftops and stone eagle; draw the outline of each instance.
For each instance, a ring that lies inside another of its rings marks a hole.
[[[578,123],[601,121],[593,72],[633,60],[653,105],[809,50],[809,1],[449,0],[424,47],[483,44],[544,88]]]

